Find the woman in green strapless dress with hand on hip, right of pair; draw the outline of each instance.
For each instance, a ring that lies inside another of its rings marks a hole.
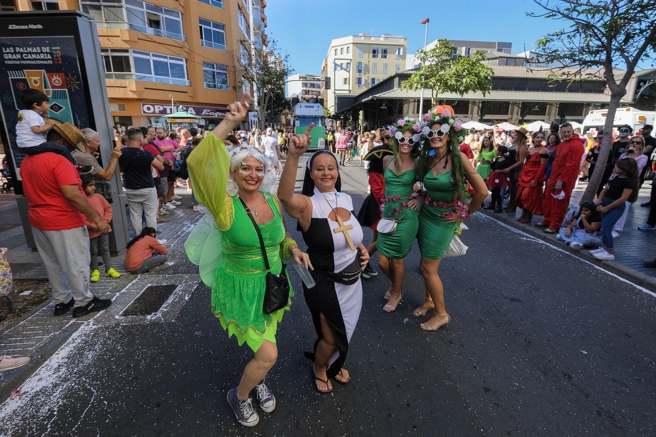
[[[426,301],[415,309],[413,315],[425,316],[434,309],[435,314],[420,325],[426,331],[436,331],[451,320],[446,312],[444,289],[438,275],[441,258],[458,223],[474,214],[487,197],[485,182],[460,151],[465,131],[452,114],[450,107],[437,106],[424,116],[424,121],[427,121],[422,129],[426,141],[422,144],[419,162],[422,163],[420,174],[426,199],[419,214],[418,238]],[[456,206],[465,202],[466,182],[472,185],[474,194],[468,210],[461,212]]]

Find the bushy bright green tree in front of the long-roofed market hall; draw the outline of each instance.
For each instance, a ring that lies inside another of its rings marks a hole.
[[[401,88],[419,90],[429,88],[436,102],[440,92],[455,92],[464,96],[468,92],[482,92],[483,96],[492,89],[493,69],[482,64],[485,54],[480,50],[471,58],[455,55],[456,48],[448,39],[438,39],[430,50],[417,50],[422,66],[401,83]]]

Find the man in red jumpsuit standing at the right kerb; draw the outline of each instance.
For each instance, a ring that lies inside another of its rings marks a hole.
[[[556,157],[551,174],[544,189],[544,220],[539,227],[546,227],[544,232],[555,234],[565,218],[569,206],[569,197],[579,177],[581,157],[585,153],[585,140],[574,136],[574,128],[565,123],[560,126],[560,144],[556,147]],[[563,197],[564,196],[564,197]],[[558,199],[562,197],[562,199]]]

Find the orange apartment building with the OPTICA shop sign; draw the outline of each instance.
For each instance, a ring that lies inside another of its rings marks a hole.
[[[163,125],[179,105],[215,126],[228,104],[251,92],[240,73],[251,43],[267,45],[265,0],[1,0],[1,7],[91,15],[112,120],[122,128]]]

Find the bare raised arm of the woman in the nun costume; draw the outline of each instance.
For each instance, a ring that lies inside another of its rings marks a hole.
[[[302,194],[294,193],[296,185],[296,172],[298,168],[298,157],[302,155],[310,145],[310,131],[314,123],[306,129],[303,135],[296,135],[289,140],[289,150],[287,151],[287,162],[280,176],[278,185],[278,199],[283,204],[285,211],[291,217],[298,220],[302,229],[310,227],[312,218],[312,202],[310,198]]]

